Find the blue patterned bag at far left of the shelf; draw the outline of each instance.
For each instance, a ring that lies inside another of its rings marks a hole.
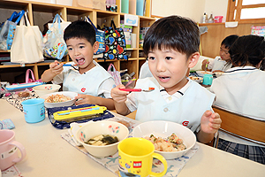
[[[25,11],[13,12],[11,18],[7,19],[0,29],[0,50],[10,50],[16,27]],[[15,20],[14,22],[12,20]]]

